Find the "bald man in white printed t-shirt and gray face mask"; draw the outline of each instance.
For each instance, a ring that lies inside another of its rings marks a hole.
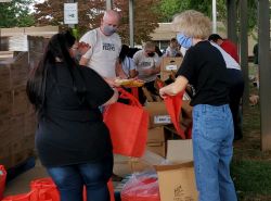
[[[118,12],[108,10],[101,20],[101,26],[89,30],[79,40],[90,46],[89,51],[81,56],[80,64],[94,70],[108,83],[115,79],[119,71],[116,68],[121,49],[120,37],[116,34],[119,22]]]

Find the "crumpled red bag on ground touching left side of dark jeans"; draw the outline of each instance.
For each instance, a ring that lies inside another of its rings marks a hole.
[[[30,183],[37,201],[60,201],[60,192],[51,178],[39,178]]]

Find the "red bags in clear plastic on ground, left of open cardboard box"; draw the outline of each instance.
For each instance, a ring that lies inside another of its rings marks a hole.
[[[121,201],[160,201],[156,173],[133,174],[121,192]]]

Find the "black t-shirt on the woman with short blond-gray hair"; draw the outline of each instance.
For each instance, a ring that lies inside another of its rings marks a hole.
[[[229,75],[220,51],[209,41],[201,41],[190,48],[177,76],[186,77],[195,88],[191,105],[222,105],[229,102]]]

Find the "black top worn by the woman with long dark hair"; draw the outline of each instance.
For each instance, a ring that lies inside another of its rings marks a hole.
[[[107,127],[99,105],[114,91],[89,67],[80,67],[75,79],[86,81],[85,101],[73,88],[73,79],[63,63],[49,68],[46,106],[39,118],[36,147],[44,166],[61,166],[101,160],[112,153]]]

